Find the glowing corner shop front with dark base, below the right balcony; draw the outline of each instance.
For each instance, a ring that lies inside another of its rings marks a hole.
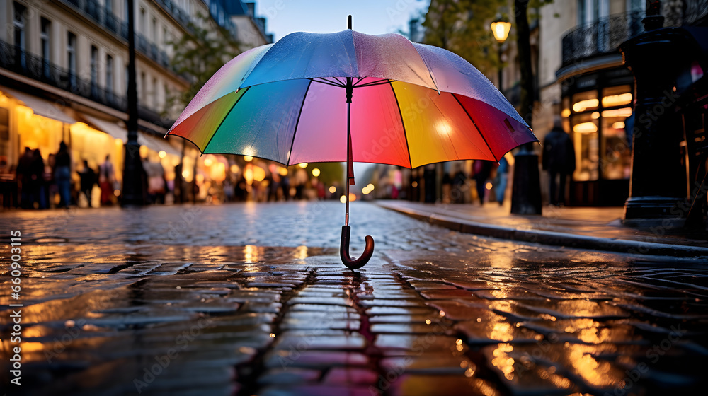
[[[564,129],[573,140],[575,206],[621,206],[629,195],[634,78],[624,68],[563,81]]]

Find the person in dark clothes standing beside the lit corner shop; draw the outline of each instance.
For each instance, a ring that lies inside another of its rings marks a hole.
[[[572,175],[576,167],[575,150],[570,136],[561,125],[561,118],[556,116],[553,129],[543,139],[544,170],[548,170],[550,179],[549,194],[552,205],[560,206],[566,201],[566,179]],[[556,180],[560,178],[557,184]]]

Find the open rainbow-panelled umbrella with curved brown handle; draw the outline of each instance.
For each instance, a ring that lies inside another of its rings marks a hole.
[[[347,103],[346,111],[343,103]],[[349,255],[353,161],[416,168],[498,161],[537,141],[518,112],[469,62],[398,34],[292,33],[248,50],[205,83],[168,134],[202,153],[297,163],[347,163],[341,258]]]

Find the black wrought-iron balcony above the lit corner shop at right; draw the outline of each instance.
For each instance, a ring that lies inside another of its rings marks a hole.
[[[644,11],[615,14],[573,28],[563,37],[563,67],[615,52],[622,42],[644,32]]]

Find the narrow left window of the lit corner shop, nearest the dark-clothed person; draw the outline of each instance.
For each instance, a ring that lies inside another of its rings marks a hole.
[[[591,114],[571,117],[573,146],[576,152],[576,171],[573,180],[598,180],[598,162],[600,161],[600,144],[598,141],[598,120]]]

